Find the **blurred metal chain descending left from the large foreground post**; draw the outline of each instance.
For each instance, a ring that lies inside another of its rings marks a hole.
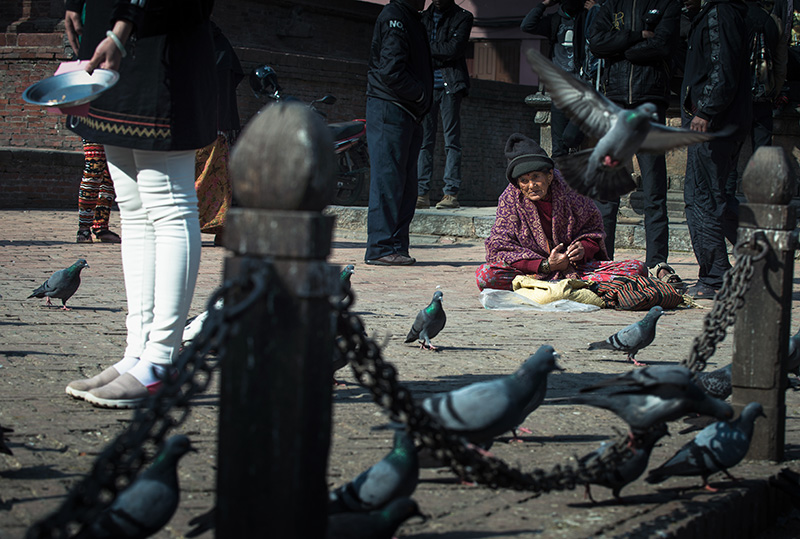
[[[28,530],[28,539],[69,537],[93,522],[134,480],[167,433],[186,421],[192,398],[208,388],[216,364],[207,361],[209,353],[215,350],[217,360],[225,357],[231,323],[270,293],[271,271],[269,263],[246,259],[237,278],[226,281],[212,294],[202,331],[181,351],[161,389],[134,412],[128,428],[100,453],[91,473],[72,489],[61,507]],[[244,299],[232,304],[232,298],[238,295]],[[224,306],[216,308],[217,300],[223,297]]]

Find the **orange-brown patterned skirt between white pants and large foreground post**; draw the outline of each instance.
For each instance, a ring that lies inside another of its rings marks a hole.
[[[231,207],[233,191],[228,175],[230,146],[225,135],[197,150],[194,188],[197,191],[197,210],[200,231],[218,234],[225,226],[225,216]]]

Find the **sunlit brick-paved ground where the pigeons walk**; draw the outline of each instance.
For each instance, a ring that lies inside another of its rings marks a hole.
[[[70,487],[90,469],[94,457],[125,428],[131,412],[92,408],[64,393],[70,380],[96,374],[123,351],[125,296],[119,246],[74,243],[77,216],[73,212],[3,211],[2,217],[0,425],[14,429],[8,436],[14,455],[0,455],[0,537],[13,538],[22,537],[28,526],[59,506]],[[114,226],[118,222],[114,214],[112,229],[118,230],[118,225]],[[204,309],[206,298],[221,282],[226,251],[213,247],[211,239],[204,236],[192,314]],[[521,444],[501,438],[492,448],[497,456],[526,471],[549,469],[571,462],[615,436],[615,429],[624,428],[608,412],[552,400],[572,395],[600,377],[629,370],[632,366],[623,355],[589,352],[586,344],[638,320],[642,313],[484,310],[474,282],[475,267],[484,255],[481,241],[415,237],[412,256],[418,263],[407,268],[366,266],[363,252],[362,236],[337,235],[330,261],[356,264],[354,310],[371,336],[386,341],[384,358],[397,367],[415,397],[509,373],[544,343],[561,353],[566,370],[550,377],[547,400],[524,423],[533,434]],[[633,251],[617,253],[617,258],[641,256]],[[91,267],[84,270],[81,288],[69,302],[71,311],[46,308],[43,300],[25,299],[50,273],[81,257]],[[692,255],[674,253],[670,262],[691,281],[688,278],[696,273]],[[435,340],[442,350],[434,353],[403,340],[414,315],[430,301],[437,286],[444,292],[448,322]],[[797,300],[797,276],[794,288],[793,299]],[[797,320],[800,303],[794,305],[793,319]],[[640,352],[638,359],[649,365],[666,365],[686,357],[707,312],[688,309],[663,316],[655,342]],[[729,335],[709,368],[730,361],[731,343]],[[331,487],[382,458],[391,445],[390,433],[372,430],[384,423],[385,416],[368,392],[354,383],[347,370],[340,371],[338,378],[347,385],[334,389]],[[181,504],[157,537],[181,537],[189,529],[188,521],[213,504],[218,396],[213,383],[195,400],[189,419],[179,429],[199,452],[181,462]],[[800,468],[795,460],[800,457],[798,412],[800,398],[789,391],[786,458],[796,469]],[[672,426],[673,436],[655,449],[652,464],[663,462],[687,441],[686,436],[677,434],[681,428]],[[712,483],[722,487],[719,494],[690,488],[699,485],[699,480],[692,478],[670,479],[658,489],[637,481],[623,490],[628,503],[618,504],[608,491],[595,487],[593,493],[600,501],[596,505],[584,499],[582,488],[537,497],[466,486],[449,470],[423,469],[414,498],[430,518],[409,521],[398,535],[418,539],[659,536],[679,529],[688,516],[746,492],[754,480],[768,477],[779,467],[768,462],[744,463],[735,469],[735,474],[744,478],[738,483],[715,476]]]

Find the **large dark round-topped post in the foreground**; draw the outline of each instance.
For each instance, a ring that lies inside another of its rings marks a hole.
[[[321,210],[334,168],[328,127],[300,104],[264,109],[233,150],[242,206],[227,218],[225,275],[259,258],[274,277],[222,362],[217,537],[325,536],[336,278]]]

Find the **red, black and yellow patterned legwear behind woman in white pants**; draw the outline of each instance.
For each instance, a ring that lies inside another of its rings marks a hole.
[[[108,230],[114,184],[102,144],[83,141],[83,176],[78,188],[78,229]]]

